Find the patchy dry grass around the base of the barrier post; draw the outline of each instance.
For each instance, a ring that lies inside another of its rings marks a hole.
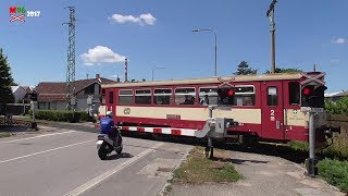
[[[243,176],[229,162],[226,151],[214,149],[216,159],[210,160],[203,156],[203,147],[190,151],[187,160],[174,171],[174,182],[202,184],[206,182],[236,182]]]

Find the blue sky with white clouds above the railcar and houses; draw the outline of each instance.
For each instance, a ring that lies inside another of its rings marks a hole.
[[[86,74],[129,78],[195,78],[231,75],[240,61],[259,73],[270,70],[271,0],[2,0],[0,47],[21,85],[64,82],[69,10],[76,8],[76,79]],[[9,7],[40,11],[39,17],[10,23]],[[347,89],[348,1],[291,0],[276,4],[276,64],[326,72],[327,91]]]

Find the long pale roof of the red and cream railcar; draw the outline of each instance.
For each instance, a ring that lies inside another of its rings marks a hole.
[[[253,82],[253,81],[287,81],[300,79],[301,73],[274,73],[262,75],[238,75],[238,76],[222,76],[222,77],[206,77],[206,78],[186,78],[186,79],[171,79],[171,81],[148,81],[134,83],[115,83],[103,84],[102,88],[112,87],[135,87],[135,86],[171,86],[171,85],[195,85],[195,84],[220,84],[219,79],[228,81],[234,78],[234,82]]]

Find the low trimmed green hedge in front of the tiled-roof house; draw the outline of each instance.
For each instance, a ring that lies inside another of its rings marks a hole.
[[[29,114],[32,117],[33,111],[29,111]],[[73,112],[67,110],[35,110],[35,119],[63,122],[92,121],[92,118],[85,111]]]

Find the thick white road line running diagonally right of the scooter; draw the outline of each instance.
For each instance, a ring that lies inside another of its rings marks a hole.
[[[98,184],[100,184],[102,181],[109,179],[111,175],[117,173],[119,171],[121,171],[122,169],[126,168],[127,166],[136,162],[137,160],[144,158],[145,156],[147,156],[148,154],[154,151],[156,149],[158,149],[160,146],[162,146],[164,143],[159,143],[157,145],[154,145],[153,147],[150,147],[147,150],[141,151],[140,154],[136,155],[135,157],[128,159],[125,162],[122,162],[121,164],[117,164],[117,167],[107,171],[105,173],[88,181],[87,183],[78,186],[77,188],[73,189],[72,192],[65,194],[64,196],[77,196],[83,194],[84,192],[86,192],[87,189],[90,189],[95,186],[97,186]]]

